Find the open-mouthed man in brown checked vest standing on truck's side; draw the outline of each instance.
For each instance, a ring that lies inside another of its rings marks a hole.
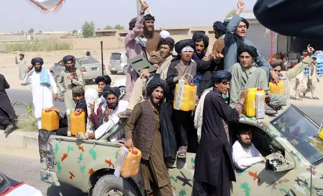
[[[125,146],[141,150],[141,178],[148,195],[173,195],[164,162],[158,105],[164,101],[168,88],[163,79],[151,79],[146,87],[149,98],[134,106],[125,127]]]

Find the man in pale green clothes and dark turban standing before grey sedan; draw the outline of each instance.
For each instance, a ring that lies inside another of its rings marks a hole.
[[[75,67],[76,58],[72,55],[64,56],[63,63],[65,70],[62,70],[57,79],[57,86],[64,94],[64,102],[66,109],[74,109],[76,102],[72,96],[72,88],[80,85],[85,88],[85,82],[82,72]],[[65,87],[63,87],[63,82]]]

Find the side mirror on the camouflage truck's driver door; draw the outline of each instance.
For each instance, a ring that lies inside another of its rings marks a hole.
[[[286,160],[279,152],[266,156],[265,169],[271,171],[287,171],[295,167],[294,162]]]

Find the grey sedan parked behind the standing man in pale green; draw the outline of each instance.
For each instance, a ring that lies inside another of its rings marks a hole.
[[[102,75],[101,62],[92,56],[76,57],[75,66],[83,72],[84,79],[86,80],[95,79],[97,76]],[[62,60],[50,67],[50,71],[55,78],[58,77],[64,69],[65,66],[62,65]],[[103,65],[103,74],[106,74],[105,65]]]

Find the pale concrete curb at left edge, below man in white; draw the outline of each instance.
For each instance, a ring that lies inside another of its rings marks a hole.
[[[0,131],[0,146],[38,150],[38,132],[15,130],[10,134]]]

